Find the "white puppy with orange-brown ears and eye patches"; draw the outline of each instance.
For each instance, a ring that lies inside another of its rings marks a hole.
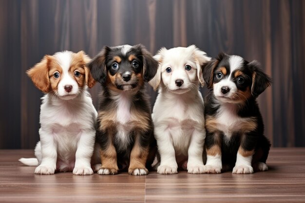
[[[40,142],[35,148],[37,159],[19,159],[37,166],[36,174],[72,171],[91,175],[91,156],[95,142],[97,112],[87,87],[95,80],[86,67],[90,58],[80,51],[45,55],[27,71],[34,85],[45,93],[40,107]]]

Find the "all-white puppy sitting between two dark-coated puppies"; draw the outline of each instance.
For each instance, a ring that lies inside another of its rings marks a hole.
[[[177,156],[182,162],[188,160],[187,164],[182,164],[188,173],[203,173],[206,131],[199,85],[204,82],[201,65],[210,57],[195,45],[162,48],[154,57],[159,67],[149,83],[154,89],[159,87],[152,113],[161,158],[157,172],[177,173]]]

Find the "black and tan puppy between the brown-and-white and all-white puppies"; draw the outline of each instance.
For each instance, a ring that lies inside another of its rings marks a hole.
[[[148,174],[156,143],[144,82],[155,75],[157,66],[141,44],[106,46],[88,64],[102,86],[95,150],[95,163],[101,163],[95,166],[98,174],[127,168],[131,175]]]

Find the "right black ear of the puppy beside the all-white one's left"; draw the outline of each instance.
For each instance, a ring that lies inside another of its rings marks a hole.
[[[135,48],[141,49],[143,56],[143,79],[145,82],[148,82],[157,73],[158,62],[152,57],[152,54],[147,51],[142,44],[135,45]]]

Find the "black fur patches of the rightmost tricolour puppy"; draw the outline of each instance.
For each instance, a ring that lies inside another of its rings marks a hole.
[[[212,59],[210,62],[204,65],[205,67],[203,76],[210,90],[209,94],[204,99],[206,119],[208,116],[217,117],[218,110],[222,105],[220,102],[218,102],[217,98],[213,94],[213,84],[218,83],[223,79],[218,79],[215,76],[217,74],[217,70],[219,70],[220,67],[226,68],[228,74],[225,75],[224,78],[228,77],[230,73],[229,57],[229,55],[221,53],[216,59]],[[271,78],[259,68],[259,64],[256,61],[248,63],[248,61],[244,60],[242,67],[240,67],[238,70],[246,75],[244,84],[237,84],[236,81],[234,81],[234,78],[232,78],[231,81],[236,83],[236,86],[239,90],[246,91],[247,88],[249,88],[251,90],[251,95],[246,101],[239,104],[234,104],[237,107],[236,114],[241,118],[255,118],[257,128],[253,131],[247,132],[243,141],[241,140],[241,135],[243,133],[245,134],[245,132],[234,132],[228,141],[228,138],[225,138],[226,135],[224,134],[224,132],[219,131],[219,143],[217,143],[215,134],[213,132],[210,132],[207,128],[205,142],[206,148],[208,149],[211,148],[213,145],[220,146],[222,164],[223,166],[229,165],[231,168],[235,165],[237,151],[240,146],[247,151],[254,149],[252,166],[256,162],[266,163],[270,148],[270,142],[264,136],[263,118],[259,111],[256,98],[260,93],[264,92],[268,86],[270,86]],[[211,76],[211,74],[213,75]],[[254,81],[252,81],[253,74],[255,74]]]

